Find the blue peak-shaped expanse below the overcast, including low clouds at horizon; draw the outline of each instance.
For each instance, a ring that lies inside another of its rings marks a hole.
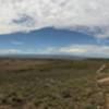
[[[107,39],[52,27],[0,35],[0,55],[70,55],[108,58]]]

